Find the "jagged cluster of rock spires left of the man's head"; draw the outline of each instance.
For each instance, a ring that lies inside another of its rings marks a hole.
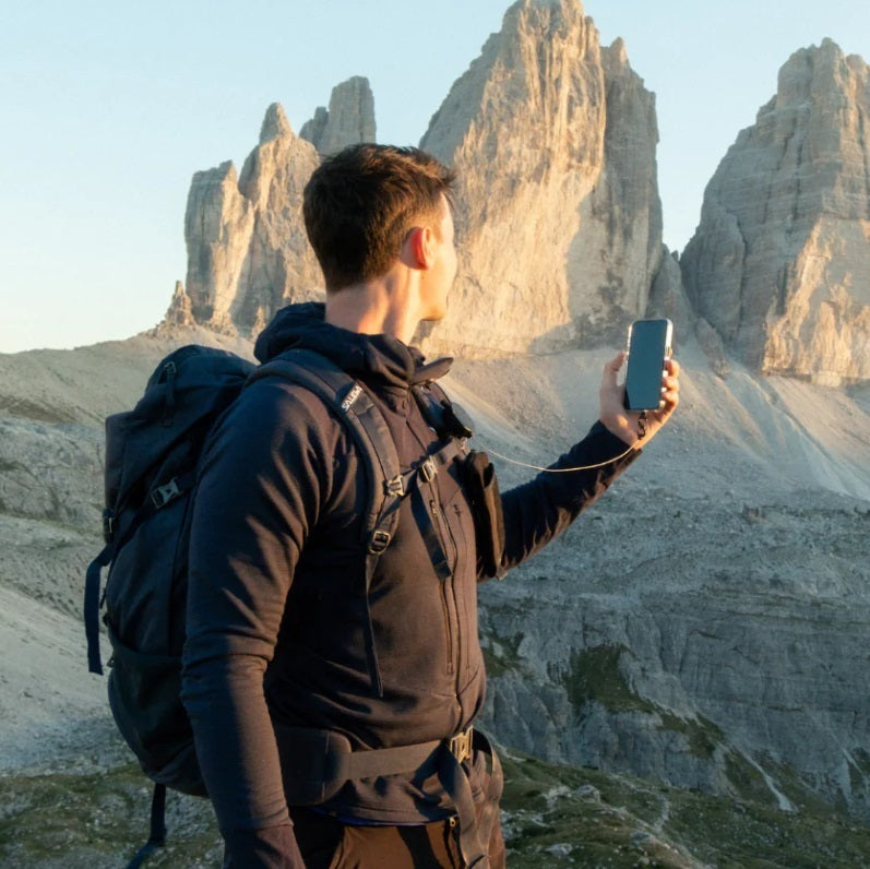
[[[231,163],[196,172],[188,194],[186,286],[166,324],[258,333],[289,301],[322,296],[323,276],[302,222],[302,191],[319,154],[374,139],[374,104],[366,79],[333,90],[296,135],[277,104],[269,107],[260,143],[241,175]]]

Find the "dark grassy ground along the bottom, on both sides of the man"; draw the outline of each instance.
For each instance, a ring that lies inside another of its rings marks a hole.
[[[587,867],[859,867],[870,830],[834,812],[667,788],[502,751],[502,822],[511,869]],[[133,766],[0,778],[0,865],[117,867],[146,835],[150,790]],[[221,843],[203,800],[170,797],[168,845],[154,867],[218,867]]]

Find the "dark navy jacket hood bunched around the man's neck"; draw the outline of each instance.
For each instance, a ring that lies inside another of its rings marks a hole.
[[[285,350],[305,348],[332,359],[339,368],[364,380],[406,390],[437,380],[453,362],[451,357],[426,364],[416,347],[392,335],[364,335],[324,321],[326,306],[307,301],[282,308],[260,333],[254,356],[261,362]]]

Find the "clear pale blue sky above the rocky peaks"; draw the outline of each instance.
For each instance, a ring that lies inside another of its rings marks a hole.
[[[257,143],[279,102],[295,130],[333,85],[369,78],[378,140],[416,144],[508,0],[29,0],[0,29],[0,352],[127,337],[187,269],[191,176]],[[665,241],[798,48],[870,59],[867,0],[587,0],[656,94]]]

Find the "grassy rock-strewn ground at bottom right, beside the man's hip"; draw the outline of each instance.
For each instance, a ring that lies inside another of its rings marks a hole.
[[[516,753],[503,765],[511,869],[870,865],[870,829],[831,807],[785,812]]]

